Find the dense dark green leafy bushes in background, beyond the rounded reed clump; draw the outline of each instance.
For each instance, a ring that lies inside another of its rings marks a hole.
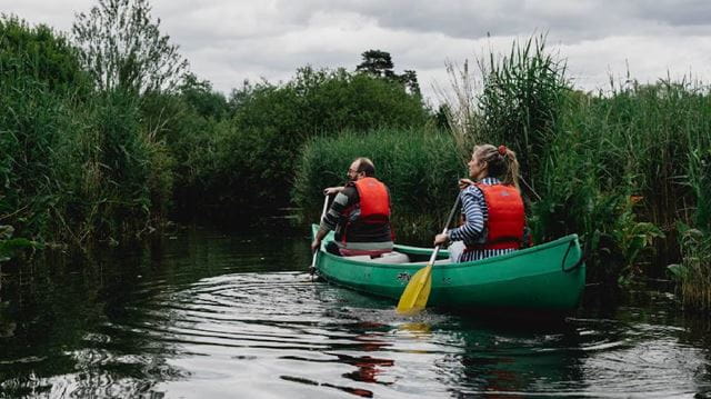
[[[212,124],[202,198],[209,208],[246,211],[289,205],[296,161],[313,136],[428,120],[420,99],[398,82],[363,73],[302,68],[289,82],[247,84],[233,92],[233,117]]]

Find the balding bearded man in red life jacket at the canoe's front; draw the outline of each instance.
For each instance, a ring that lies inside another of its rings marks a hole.
[[[390,191],[374,174],[373,162],[358,158],[348,169],[346,186],[323,190],[324,194],[336,194],[336,198],[311,242],[312,251],[318,250],[331,230],[336,230],[336,239],[326,247],[330,253],[375,257],[392,251]]]

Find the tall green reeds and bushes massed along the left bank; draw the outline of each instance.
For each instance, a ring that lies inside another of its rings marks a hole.
[[[150,230],[170,198],[170,157],[143,129],[139,98],[93,92],[77,51],[46,28],[2,27],[21,40],[0,56],[0,222],[79,246]]]

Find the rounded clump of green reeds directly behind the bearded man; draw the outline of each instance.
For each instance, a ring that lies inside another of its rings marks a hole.
[[[304,218],[318,218],[321,189],[343,184],[353,159],[368,157],[390,189],[393,229],[399,241],[431,242],[457,198],[463,166],[447,133],[427,129],[379,129],[314,137],[297,168],[293,198]],[[431,233],[432,236],[428,236]]]

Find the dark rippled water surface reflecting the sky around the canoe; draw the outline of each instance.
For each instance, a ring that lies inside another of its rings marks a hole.
[[[405,318],[311,282],[288,236],[188,229],[4,275],[0,397],[711,397],[711,323],[671,293],[559,325]]]

